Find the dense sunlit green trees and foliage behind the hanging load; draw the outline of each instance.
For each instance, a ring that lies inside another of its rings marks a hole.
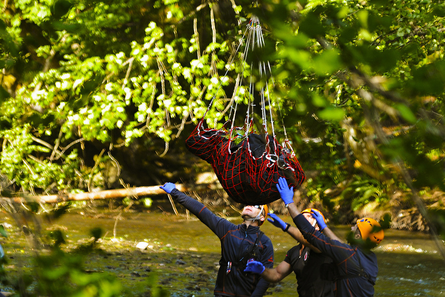
[[[275,80],[276,133],[282,140],[286,127],[308,197],[340,222],[392,205],[443,232],[443,3],[2,5],[2,196],[193,182],[204,165],[189,166],[184,139],[216,92],[206,120],[227,117],[242,68],[228,61],[255,14],[266,40],[256,54]]]

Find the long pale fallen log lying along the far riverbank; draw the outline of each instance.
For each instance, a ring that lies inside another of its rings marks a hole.
[[[177,184],[176,188],[181,192],[190,191],[185,185]],[[193,188],[194,191],[200,190]],[[29,202],[37,202],[37,203],[58,203],[64,201],[81,201],[81,200],[97,200],[97,199],[115,199],[115,198],[124,198],[124,197],[139,197],[139,196],[148,196],[148,195],[165,195],[167,193],[164,190],[160,189],[159,186],[151,186],[151,187],[135,187],[135,188],[126,188],[126,189],[116,189],[116,190],[105,190],[100,192],[92,192],[92,193],[78,193],[78,194],[70,194],[70,193],[59,193],[57,195],[38,195],[38,196],[26,196],[26,197],[2,197],[2,200],[9,200],[11,202],[16,203],[29,203]]]

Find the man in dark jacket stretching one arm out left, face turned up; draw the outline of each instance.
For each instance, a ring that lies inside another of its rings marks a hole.
[[[185,208],[215,233],[221,242],[220,268],[215,284],[216,297],[262,297],[269,283],[255,273],[246,273],[248,261],[260,261],[273,267],[273,246],[260,230],[267,218],[267,205],[246,205],[241,217],[243,223],[235,225],[215,215],[204,204],[176,189],[175,184],[160,187],[176,198]]]

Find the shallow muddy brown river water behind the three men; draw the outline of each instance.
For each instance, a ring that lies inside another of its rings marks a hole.
[[[234,223],[241,221],[237,216],[228,218]],[[283,219],[292,223],[289,217],[283,216]],[[0,239],[6,254],[12,257],[7,269],[11,273],[32,269],[26,259],[31,253],[17,233],[14,221],[1,215],[0,223],[12,225],[6,229],[10,236]],[[156,273],[159,285],[171,296],[213,296],[220,244],[218,238],[193,216],[176,216],[163,211],[121,215],[117,212],[69,213],[54,224],[43,223],[43,227],[44,230],[62,230],[68,249],[88,241],[91,228],[102,228],[105,234],[100,245],[106,253],[89,256],[86,269],[113,273],[126,287],[131,288]],[[342,237],[349,227],[332,226],[332,229]],[[278,264],[296,243],[269,223],[263,225],[262,230],[272,240],[275,264]],[[139,251],[135,247],[138,242],[147,242],[149,246]],[[445,296],[445,260],[428,235],[388,230],[383,244],[375,252],[379,261],[375,296]],[[14,262],[19,260],[21,263]],[[274,297],[298,296],[294,275],[272,285],[268,292]]]

